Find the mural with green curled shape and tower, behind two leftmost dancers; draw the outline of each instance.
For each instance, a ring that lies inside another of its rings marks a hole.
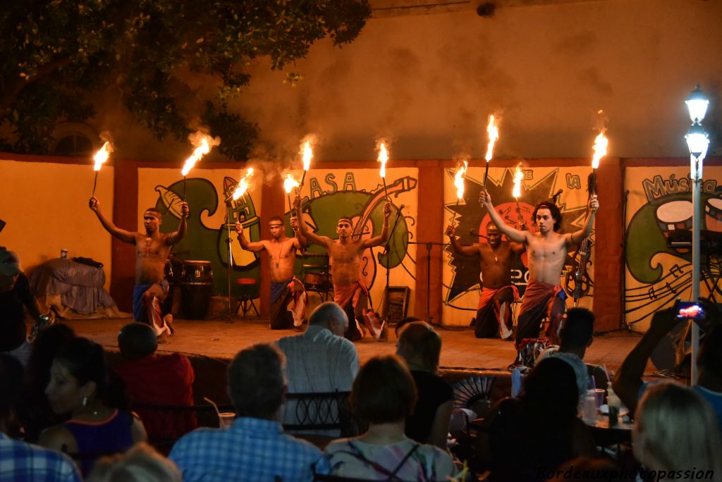
[[[240,249],[235,222],[243,224],[245,236],[251,241],[261,239],[261,183],[253,185],[237,201],[232,193],[242,176],[241,170],[191,171],[183,180],[177,169],[139,169],[139,216],[150,206],[163,213],[162,232],[178,229],[183,192],[190,207],[188,235],[173,247],[173,256],[183,261],[209,261],[213,274],[213,293],[228,293],[228,257],[230,253],[231,294],[238,297],[239,278],[260,281],[261,268],[256,254]],[[186,184],[185,187],[183,184]],[[230,235],[230,243],[228,242]],[[251,297],[258,297],[258,283],[251,288]],[[244,287],[243,289],[248,289]]]

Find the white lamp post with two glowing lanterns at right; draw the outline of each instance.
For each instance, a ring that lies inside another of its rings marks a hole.
[[[690,177],[692,178],[692,301],[700,297],[700,214],[702,204],[702,165],[710,139],[701,122],[707,113],[710,101],[705,97],[700,84],[684,101],[690,111],[692,126],[684,138],[690,149]],[[700,348],[700,328],[692,323],[692,377],[691,385],[697,383],[697,351]]]

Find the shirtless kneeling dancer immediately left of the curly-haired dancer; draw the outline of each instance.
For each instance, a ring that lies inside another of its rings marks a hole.
[[[487,224],[486,242],[471,246],[459,244],[453,226],[446,228],[451,249],[457,255],[477,256],[482,271],[482,294],[479,296],[477,317],[471,320],[477,338],[494,338],[497,333],[507,340],[512,335],[511,303],[518,301],[519,292],[511,284],[511,268],[517,253],[524,247],[518,242],[501,240],[499,229],[493,222]]]

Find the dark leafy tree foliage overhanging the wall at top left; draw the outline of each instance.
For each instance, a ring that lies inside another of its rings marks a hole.
[[[47,152],[56,122],[95,115],[92,92],[120,99],[157,139],[185,139],[199,118],[184,102],[186,80],[196,75],[214,91],[202,121],[222,136],[224,154],[245,159],[258,127],[230,113],[228,102],[248,84],[248,62],[268,56],[283,69],[316,40],[351,42],[370,15],[367,0],[3,4],[0,124],[12,128],[13,151],[36,154]]]

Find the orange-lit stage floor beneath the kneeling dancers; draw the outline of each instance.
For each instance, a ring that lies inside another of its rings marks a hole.
[[[103,320],[63,320],[79,336],[100,343],[106,349],[117,351],[118,331],[129,318]],[[240,349],[253,343],[269,343],[284,336],[297,335],[297,330],[271,330],[268,320],[234,318],[231,323],[222,320],[175,320],[175,336],[169,342],[158,346],[158,351],[180,352],[187,355],[206,356],[227,361]],[[511,341],[475,338],[471,328],[437,328],[443,344],[441,367],[464,368],[506,368],[513,362],[516,351]],[[627,353],[637,344],[640,336],[623,331],[597,336],[587,349],[587,363],[604,365],[610,372],[616,372]],[[392,354],[396,351],[396,336],[389,330],[388,341],[364,338],[355,343],[361,362],[371,356]],[[650,363],[646,372],[655,368]]]

